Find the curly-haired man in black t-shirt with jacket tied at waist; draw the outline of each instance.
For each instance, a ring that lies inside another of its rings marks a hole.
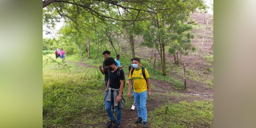
[[[116,67],[115,60],[113,58],[107,58],[104,60],[103,64],[108,67],[108,84],[106,88],[105,100],[105,110],[108,114],[110,122],[108,123],[108,128],[110,128],[115,122],[114,128],[119,128],[121,125],[122,111],[120,103],[123,101],[123,88],[124,88],[124,71],[120,70],[120,75],[117,75],[118,67]],[[111,93],[111,94],[109,94]],[[116,118],[111,110],[111,105],[114,104],[116,109]]]

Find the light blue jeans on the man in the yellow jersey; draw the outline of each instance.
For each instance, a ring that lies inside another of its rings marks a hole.
[[[147,101],[147,92],[134,92],[134,99],[136,101],[138,116],[142,118],[142,122],[147,122],[147,108],[146,108],[146,101]]]

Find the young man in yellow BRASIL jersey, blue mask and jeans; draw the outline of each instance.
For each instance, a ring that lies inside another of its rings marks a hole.
[[[132,67],[134,68],[133,72],[129,74],[129,84],[128,84],[128,97],[131,98],[131,85],[133,80],[133,95],[136,101],[137,110],[138,110],[138,119],[135,123],[140,123],[142,121],[143,128],[147,128],[147,94],[148,97],[151,96],[151,86],[147,69],[145,69],[145,76],[142,75],[142,67],[140,67],[140,58],[133,58]],[[148,90],[148,91],[147,91]]]

